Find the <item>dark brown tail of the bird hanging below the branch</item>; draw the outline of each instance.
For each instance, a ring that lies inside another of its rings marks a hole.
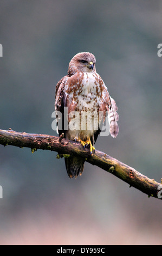
[[[82,175],[85,161],[81,157],[68,157],[64,159],[69,178]]]

